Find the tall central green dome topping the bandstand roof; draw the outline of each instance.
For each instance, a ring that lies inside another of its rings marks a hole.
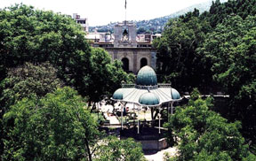
[[[140,86],[156,86],[157,79],[154,69],[146,65],[142,67],[137,75],[136,85]]]

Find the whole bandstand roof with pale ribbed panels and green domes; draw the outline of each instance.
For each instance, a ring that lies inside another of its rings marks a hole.
[[[156,73],[150,66],[140,69],[136,85],[124,85],[117,89],[112,99],[149,107],[181,100],[180,93],[171,84],[157,84]]]

